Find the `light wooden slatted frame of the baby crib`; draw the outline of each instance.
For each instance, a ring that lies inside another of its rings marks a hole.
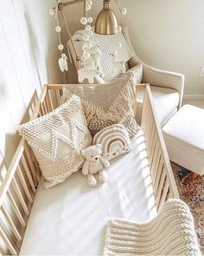
[[[45,115],[61,104],[63,85],[45,85],[33,109],[31,119]],[[144,91],[142,123],[150,164],[156,208],[170,198],[179,198],[163,134],[152,104],[150,85],[137,84]],[[136,94],[137,95],[137,94]],[[35,200],[41,170],[26,141],[20,141],[16,154],[0,187],[0,234],[10,254],[18,254]]]

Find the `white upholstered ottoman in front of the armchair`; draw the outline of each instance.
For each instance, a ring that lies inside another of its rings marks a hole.
[[[204,109],[183,106],[163,127],[171,161],[204,174]]]

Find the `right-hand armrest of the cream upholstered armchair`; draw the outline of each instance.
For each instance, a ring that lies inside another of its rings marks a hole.
[[[143,83],[150,83],[155,86],[176,89],[180,94],[178,108],[181,108],[184,89],[184,75],[155,69],[143,63]]]

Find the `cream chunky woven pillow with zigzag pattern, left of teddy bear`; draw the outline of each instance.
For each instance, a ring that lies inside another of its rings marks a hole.
[[[18,130],[39,162],[45,188],[65,181],[78,171],[84,161],[80,150],[92,144],[77,95],[53,112],[22,124]]]

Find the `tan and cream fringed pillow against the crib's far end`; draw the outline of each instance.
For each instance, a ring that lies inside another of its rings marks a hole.
[[[138,70],[141,67],[138,65]],[[141,75],[136,79],[136,73],[130,72],[103,84],[66,85],[61,102],[66,102],[72,94],[80,96],[92,136],[107,126],[122,123],[133,137],[139,129],[135,120],[133,84],[141,82]]]

